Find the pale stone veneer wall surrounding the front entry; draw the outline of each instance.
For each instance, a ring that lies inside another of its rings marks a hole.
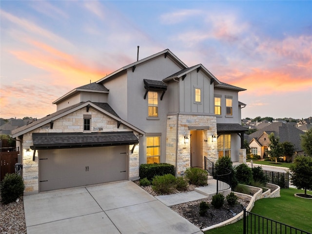
[[[185,171],[191,166],[191,141],[185,144],[184,136],[186,134],[188,136],[191,135],[189,127],[192,126],[209,126],[209,129],[203,130],[202,166],[204,168],[205,156],[209,160],[215,162],[218,158],[217,142],[212,142],[211,139],[212,135],[216,135],[216,117],[180,114],[178,115],[178,126],[176,126],[176,118],[177,115],[170,115],[167,117],[166,162],[177,167],[177,174],[180,174],[181,171]]]

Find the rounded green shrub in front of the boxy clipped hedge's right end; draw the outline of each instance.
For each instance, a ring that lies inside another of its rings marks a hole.
[[[160,194],[171,194],[176,189],[176,177],[171,174],[155,176],[152,189]]]

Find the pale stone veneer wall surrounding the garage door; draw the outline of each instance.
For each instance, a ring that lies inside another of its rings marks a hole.
[[[39,192],[39,160],[38,151],[36,151],[35,161],[33,161],[33,153],[27,156],[26,150],[33,146],[33,133],[78,133],[83,132],[83,115],[92,115],[91,129],[92,132],[123,132],[129,131],[125,125],[120,125],[117,128],[117,121],[99,113],[97,110],[90,108],[86,112],[86,108],[82,108],[67,116],[61,117],[54,121],[53,129],[50,128],[50,123],[37,128],[34,131],[23,135],[23,149],[22,149],[22,164],[23,164],[23,180],[25,184],[24,194],[34,194]],[[138,134],[134,132],[136,136]],[[138,176],[139,154],[138,146],[135,147],[131,153],[133,145],[129,146],[129,179]]]

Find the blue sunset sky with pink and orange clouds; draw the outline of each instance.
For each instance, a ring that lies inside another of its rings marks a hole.
[[[170,49],[239,92],[245,117],[312,116],[312,1],[0,1],[0,117]]]

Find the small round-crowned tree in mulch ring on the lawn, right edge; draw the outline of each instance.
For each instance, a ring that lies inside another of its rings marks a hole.
[[[297,189],[304,189],[304,194],[307,195],[307,190],[312,190],[312,157],[297,156],[291,170],[291,181]]]

